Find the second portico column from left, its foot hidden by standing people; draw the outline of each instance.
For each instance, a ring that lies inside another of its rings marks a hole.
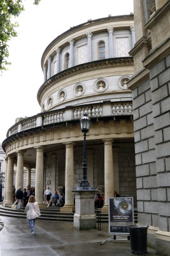
[[[23,189],[24,178],[24,153],[25,150],[17,151],[17,177],[16,177],[16,190],[21,187]]]

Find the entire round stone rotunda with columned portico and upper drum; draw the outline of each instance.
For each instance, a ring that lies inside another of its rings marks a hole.
[[[73,211],[71,191],[82,179],[83,134],[80,118],[90,117],[87,133],[87,179],[108,197],[117,190],[134,196],[136,178],[131,90],[134,74],[129,51],[134,47],[133,15],[88,20],[57,36],[41,58],[44,83],[37,99],[41,113],[17,120],[7,132],[4,205],[12,204],[13,164],[16,188],[36,168],[36,200],[43,205],[46,186],[65,186],[62,211]]]

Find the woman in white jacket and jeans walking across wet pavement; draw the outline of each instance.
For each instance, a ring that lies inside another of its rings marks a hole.
[[[29,202],[25,207],[25,213],[27,213],[27,220],[29,220],[29,226],[31,228],[31,234],[34,235],[34,225],[35,221],[41,213],[39,211],[38,203],[36,202],[35,196],[29,196]]]

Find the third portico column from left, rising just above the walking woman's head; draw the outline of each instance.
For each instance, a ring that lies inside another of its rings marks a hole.
[[[36,202],[43,207],[43,147],[36,147]]]

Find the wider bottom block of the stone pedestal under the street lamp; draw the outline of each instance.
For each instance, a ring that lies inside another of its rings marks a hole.
[[[96,214],[74,214],[74,228],[96,229]]]

